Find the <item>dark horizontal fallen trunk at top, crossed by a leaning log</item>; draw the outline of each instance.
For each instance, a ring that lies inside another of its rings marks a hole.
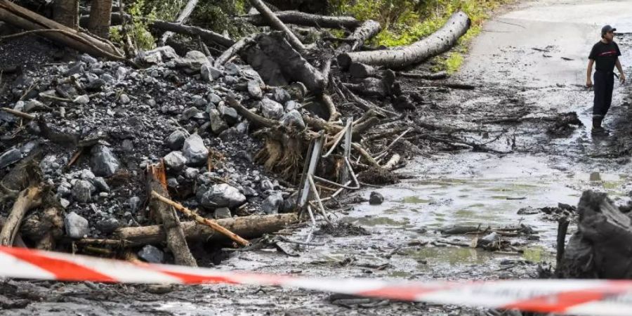
[[[362,25],[362,22],[351,16],[316,15],[299,11],[279,11],[274,14],[281,22],[307,27],[355,29]],[[242,18],[256,26],[268,25],[261,14],[247,15]]]

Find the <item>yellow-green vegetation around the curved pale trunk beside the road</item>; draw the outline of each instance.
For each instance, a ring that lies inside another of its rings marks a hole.
[[[403,46],[439,29],[452,13],[462,10],[472,27],[451,53],[435,58],[435,70],[454,72],[463,63],[466,44],[480,34],[489,12],[511,0],[330,0],[336,14],[353,15],[360,20],[376,20],[382,25],[374,44]]]

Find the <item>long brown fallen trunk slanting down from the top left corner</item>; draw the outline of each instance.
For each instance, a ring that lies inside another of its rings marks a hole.
[[[0,0],[0,20],[22,29],[38,32],[41,36],[74,48],[77,51],[100,57],[124,60],[124,55],[112,44],[77,32],[70,27],[44,18],[8,0]]]

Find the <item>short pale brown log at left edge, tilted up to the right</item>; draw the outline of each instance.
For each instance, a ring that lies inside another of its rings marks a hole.
[[[2,230],[0,230],[0,246],[13,246],[15,235],[20,230],[22,218],[29,209],[37,207],[41,204],[41,186],[34,185],[27,187],[20,192],[18,199],[15,200],[11,213],[6,218]]]

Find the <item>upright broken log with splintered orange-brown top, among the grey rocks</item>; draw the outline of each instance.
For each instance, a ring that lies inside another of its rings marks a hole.
[[[173,207],[164,204],[159,199],[152,197],[151,192],[158,192],[160,195],[169,196],[166,186],[166,174],[164,170],[164,162],[159,164],[150,164],[147,166],[147,197],[149,197],[150,210],[152,218],[156,223],[162,223],[165,230],[166,244],[173,254],[173,258],[177,265],[187,265],[197,267],[197,261],[193,258],[184,231],[180,226],[180,218],[176,214]]]

